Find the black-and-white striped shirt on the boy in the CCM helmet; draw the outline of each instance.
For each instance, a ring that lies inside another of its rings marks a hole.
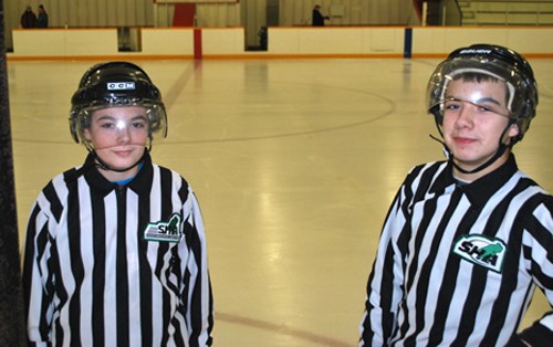
[[[175,171],[144,166],[126,186],[88,156],[31,211],[23,287],[31,346],[210,346],[206,235]]]

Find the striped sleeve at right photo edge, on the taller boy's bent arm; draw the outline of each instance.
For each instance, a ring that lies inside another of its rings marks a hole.
[[[524,253],[530,254],[529,272],[553,307],[553,198],[547,196],[530,218],[525,230]],[[551,346],[553,341],[553,309],[524,329],[520,338],[533,347]]]

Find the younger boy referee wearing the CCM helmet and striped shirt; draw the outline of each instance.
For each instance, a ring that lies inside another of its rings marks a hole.
[[[206,234],[191,188],[152,162],[161,95],[137,65],[91,67],[71,132],[88,156],[31,211],[23,287],[30,346],[210,346]]]

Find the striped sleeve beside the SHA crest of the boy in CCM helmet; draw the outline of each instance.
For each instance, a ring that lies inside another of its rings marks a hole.
[[[189,189],[185,203],[184,232],[188,260],[184,270],[182,301],[186,312],[189,345],[211,346],[213,297],[207,260],[207,241],[198,200]]]

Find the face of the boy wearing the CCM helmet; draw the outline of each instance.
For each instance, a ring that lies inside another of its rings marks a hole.
[[[132,167],[140,160],[148,141],[146,108],[139,106],[109,107],[91,114],[84,130],[96,155],[114,169]],[[129,176],[136,174],[137,168]]]

